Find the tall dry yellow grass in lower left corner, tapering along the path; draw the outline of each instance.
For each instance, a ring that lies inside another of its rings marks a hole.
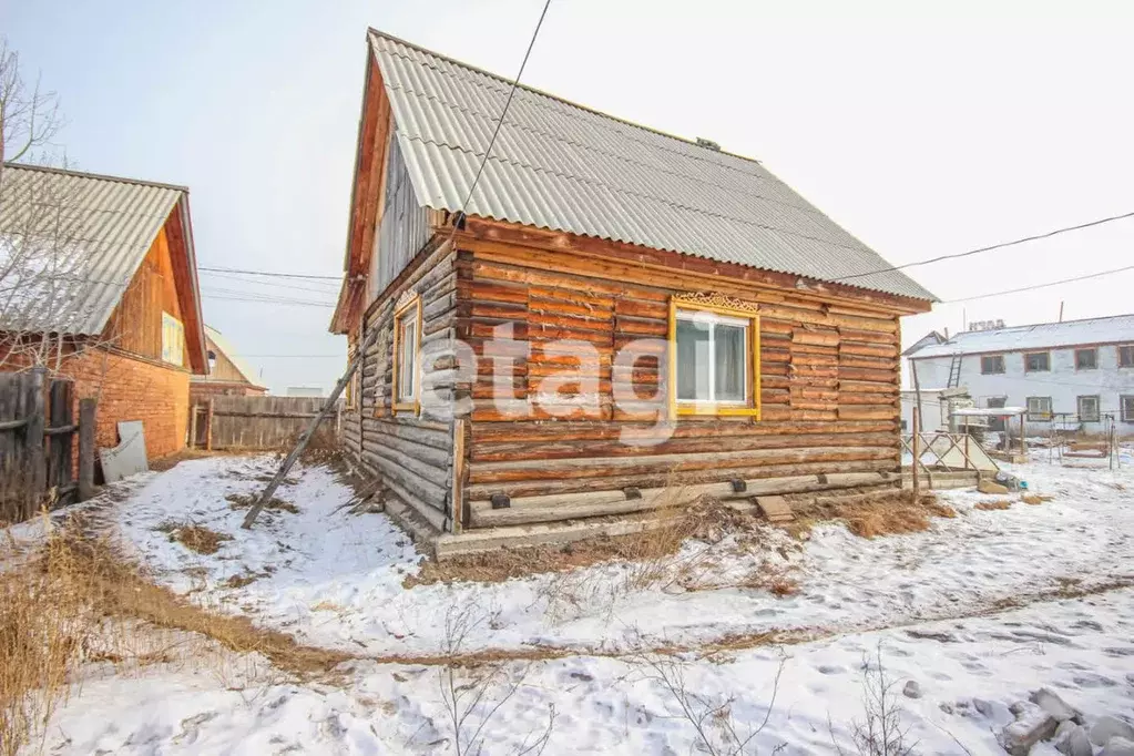
[[[202,663],[208,642],[262,654],[299,678],[329,676],[349,659],[187,603],[84,535],[81,524],[51,530],[31,550],[9,544],[8,551],[0,571],[0,756],[43,736],[86,662]]]

